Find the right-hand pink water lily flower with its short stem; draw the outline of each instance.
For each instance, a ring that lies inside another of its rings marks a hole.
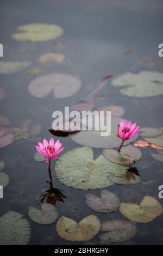
[[[118,152],[120,152],[124,141],[133,138],[139,132],[140,126],[136,126],[136,123],[132,124],[131,121],[122,120],[121,123],[118,125],[118,129],[116,132],[116,136],[122,139],[122,143],[118,148]]]

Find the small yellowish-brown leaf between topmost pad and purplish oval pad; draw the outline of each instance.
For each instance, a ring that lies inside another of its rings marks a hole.
[[[45,54],[42,54],[39,57],[39,62],[45,63],[45,62],[57,62],[61,63],[65,59],[65,56],[60,53],[55,53],[55,52],[48,52]]]

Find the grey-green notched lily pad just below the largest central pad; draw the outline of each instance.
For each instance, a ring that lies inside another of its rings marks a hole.
[[[102,190],[101,198],[95,194],[87,194],[86,204],[94,211],[98,212],[112,212],[118,209],[120,201],[116,194]]]

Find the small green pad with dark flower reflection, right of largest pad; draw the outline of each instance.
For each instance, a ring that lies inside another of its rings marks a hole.
[[[140,176],[135,174],[134,172],[127,171],[125,174],[122,173],[119,176],[108,175],[108,180],[115,184],[133,185],[140,182]]]

